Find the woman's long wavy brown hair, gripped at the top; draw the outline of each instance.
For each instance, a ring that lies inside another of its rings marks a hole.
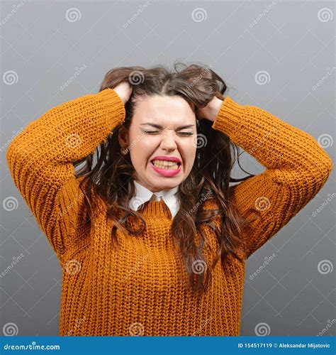
[[[183,97],[196,113],[215,96],[223,100],[223,94],[227,89],[223,79],[209,67],[195,64],[188,66],[176,62],[174,70],[169,70],[165,65],[148,69],[139,66],[113,68],[106,73],[99,91],[116,87],[126,80],[133,86],[130,99],[125,104],[123,126],[127,130],[138,97],[150,97],[154,94],[178,95]],[[244,254],[238,252],[245,250],[242,229],[250,224],[238,213],[232,201],[229,183],[254,176],[249,174],[242,179],[230,177],[236,159],[240,165],[239,147],[230,141],[227,135],[212,129],[212,124],[213,122],[207,119],[196,119],[197,134],[201,143],[196,148],[196,159],[191,173],[179,185],[177,195],[180,207],[172,222],[172,235],[184,262],[189,285],[192,290],[201,293],[208,288],[211,270],[219,258],[223,266],[229,255],[240,262],[243,261]],[[135,186],[132,183],[135,170],[130,155],[120,153],[121,146],[118,142],[120,127],[121,125],[113,129],[94,153],[74,162],[75,167],[85,162],[77,177],[84,176],[80,187],[82,189],[85,185],[85,203],[89,211],[86,222],[91,221],[94,224],[90,203],[92,196],[101,197],[108,206],[108,217],[113,220],[111,238],[112,244],[116,246],[118,246],[117,229],[133,235],[138,235],[145,229],[145,219],[140,213],[141,210],[135,212],[128,206],[130,199],[135,196]],[[94,154],[96,164],[93,166]],[[216,208],[206,209],[205,203],[200,201],[215,202]],[[139,228],[134,229],[130,225]],[[204,227],[215,231],[219,247],[212,266],[206,267],[206,272],[195,272],[195,268],[207,265],[202,253],[204,244],[208,244],[203,232]]]

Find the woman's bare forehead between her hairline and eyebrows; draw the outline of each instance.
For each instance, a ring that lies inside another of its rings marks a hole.
[[[152,122],[169,124],[196,124],[196,116],[185,99],[179,96],[141,97],[135,104],[133,121],[136,124]]]

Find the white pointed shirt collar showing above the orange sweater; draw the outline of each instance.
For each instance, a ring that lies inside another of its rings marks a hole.
[[[174,218],[179,210],[179,202],[177,199],[177,191],[179,190],[179,186],[173,187],[169,190],[161,190],[159,192],[152,192],[147,189],[147,187],[142,186],[139,182],[133,180],[135,186],[135,197],[132,197],[129,202],[130,209],[133,211],[138,211],[142,204],[149,201],[152,198],[152,195],[157,196],[157,200],[164,200],[167,207],[170,209],[172,213],[172,217]]]

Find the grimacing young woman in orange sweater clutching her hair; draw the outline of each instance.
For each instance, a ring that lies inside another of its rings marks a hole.
[[[225,90],[199,65],[117,67],[13,139],[13,181],[62,266],[60,335],[240,335],[245,261],[332,161]],[[230,177],[238,146],[263,173]]]

